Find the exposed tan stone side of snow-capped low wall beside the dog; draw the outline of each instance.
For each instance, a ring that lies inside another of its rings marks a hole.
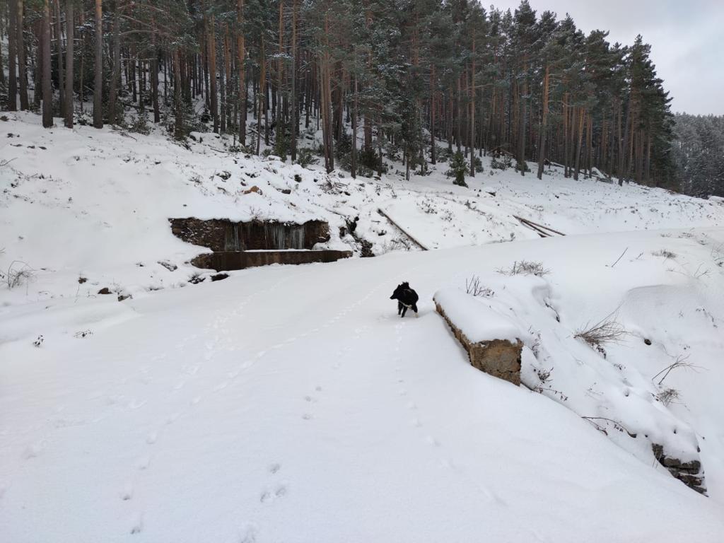
[[[439,303],[435,303],[435,308],[450,326],[452,333],[463,345],[463,348],[468,351],[468,357],[473,367],[515,385],[521,384],[521,352],[523,350],[521,340],[517,340],[515,343],[508,340],[473,343],[448,318]]]

